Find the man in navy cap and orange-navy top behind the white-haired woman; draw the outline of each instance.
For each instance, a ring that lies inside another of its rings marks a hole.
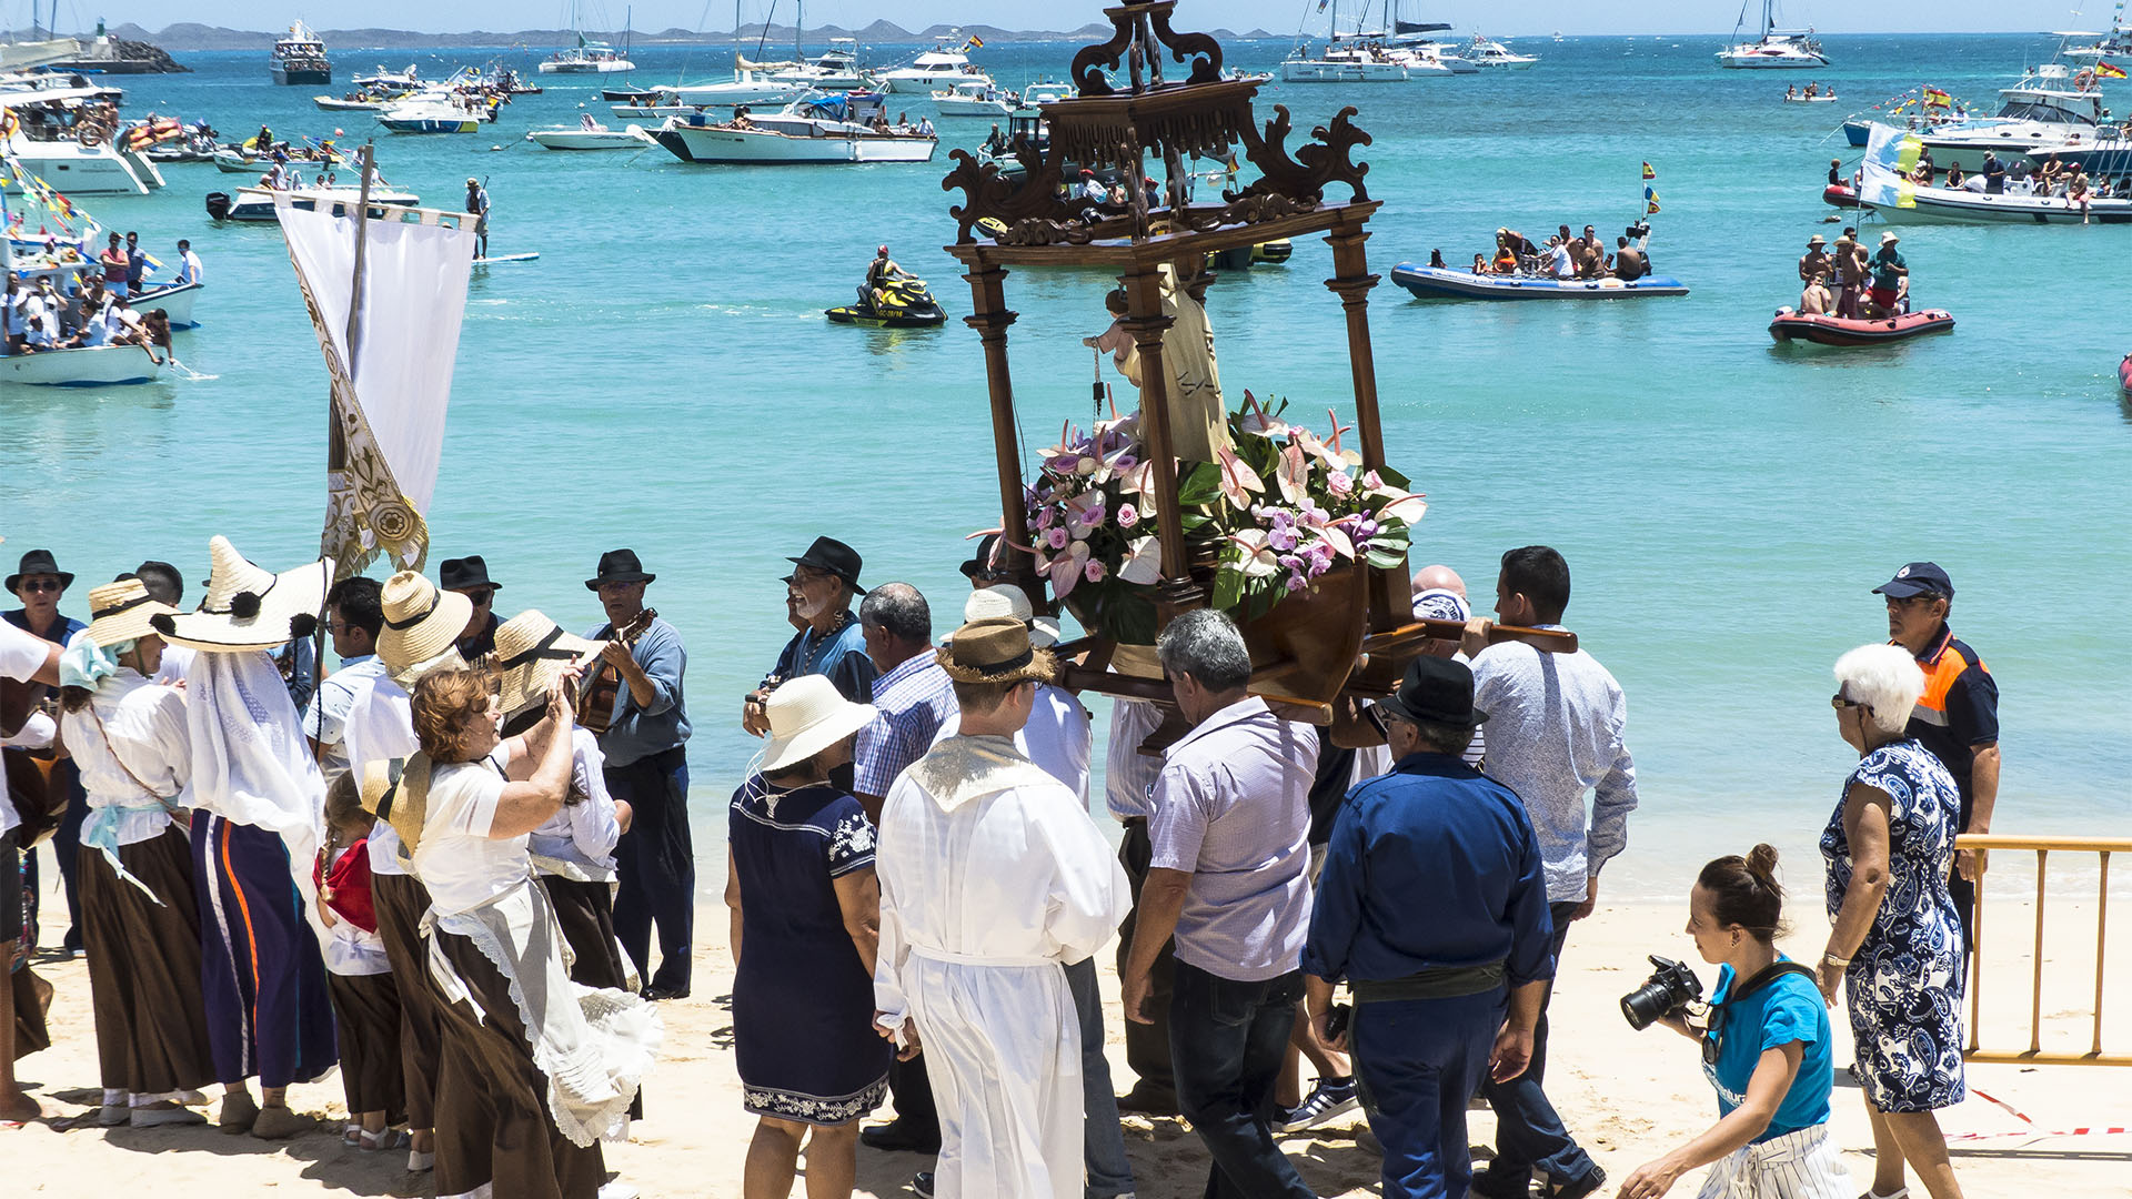
[[[1991,832],[1998,804],[1998,681],[1974,649],[1955,638],[1947,614],[1955,585],[1929,561],[1912,561],[1895,578],[1874,587],[1887,597],[1887,640],[1917,655],[1925,672],[1925,696],[1910,713],[1908,734],[1932,751],[1961,789],[1961,832]],[[1961,913],[1961,941],[1970,943],[1976,907],[1976,875],[1983,853],[1961,849],[1947,890]]]

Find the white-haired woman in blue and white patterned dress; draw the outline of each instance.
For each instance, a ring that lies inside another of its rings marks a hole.
[[[1846,984],[1874,1139],[1866,1199],[1904,1199],[1904,1163],[1932,1199],[1959,1199],[1934,1109],[1966,1094],[1961,922],[1947,892],[1961,794],[1904,732],[1925,693],[1910,651],[1859,646],[1836,659],[1836,728],[1861,760],[1821,834],[1834,928],[1816,981],[1831,1005]]]

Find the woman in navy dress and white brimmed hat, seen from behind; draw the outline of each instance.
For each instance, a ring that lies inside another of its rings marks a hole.
[[[889,1045],[874,1030],[874,826],[829,783],[874,706],[810,674],[772,691],[763,710],[770,745],[761,774],[733,792],[725,873],[733,1065],[759,1116],[744,1186],[791,1190],[806,1139],[808,1195],[831,1199],[851,1195],[859,1120],[889,1086]]]

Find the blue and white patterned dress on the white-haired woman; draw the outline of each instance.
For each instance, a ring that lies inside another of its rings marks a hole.
[[[1844,973],[1853,1077],[1880,1112],[1961,1103],[1961,922],[1947,892],[1961,794],[1947,766],[1915,740],[1883,745],[1844,781],[1887,792],[1889,885]],[[1851,888],[1851,838],[1838,798],[1821,832],[1829,920]]]

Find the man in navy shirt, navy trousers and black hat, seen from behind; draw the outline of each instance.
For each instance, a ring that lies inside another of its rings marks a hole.
[[[1524,1071],[1554,977],[1548,881],[1524,804],[1458,760],[1484,719],[1473,672],[1418,657],[1379,708],[1396,766],[1332,826],[1305,1007],[1320,1039],[1352,1043],[1386,1199],[1465,1195],[1467,1103],[1484,1075]],[[1354,1022],[1330,1039],[1339,979]]]

